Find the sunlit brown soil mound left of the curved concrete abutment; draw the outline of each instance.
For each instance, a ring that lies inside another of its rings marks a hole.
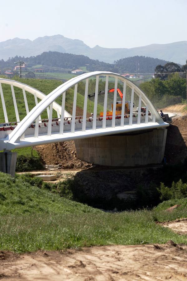
[[[34,149],[38,151],[43,164],[48,168],[85,169],[92,166],[77,158],[74,141],[39,145]]]

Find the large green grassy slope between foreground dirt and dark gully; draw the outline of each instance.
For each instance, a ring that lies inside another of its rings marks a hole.
[[[151,211],[104,213],[0,173],[0,248],[17,252],[104,244],[186,243]]]

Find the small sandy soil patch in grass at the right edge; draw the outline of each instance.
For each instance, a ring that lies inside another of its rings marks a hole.
[[[176,219],[174,221],[160,223],[162,226],[169,227],[181,235],[187,235],[187,218]]]

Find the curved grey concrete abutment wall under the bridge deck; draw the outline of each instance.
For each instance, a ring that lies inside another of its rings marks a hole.
[[[75,140],[77,157],[106,166],[136,166],[161,163],[167,129],[138,134],[100,136]]]

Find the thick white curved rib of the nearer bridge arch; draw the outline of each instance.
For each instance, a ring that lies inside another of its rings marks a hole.
[[[108,71],[94,71],[90,73],[84,73],[80,76],[74,77],[69,81],[66,81],[64,84],[57,87],[50,94],[45,96],[26,116],[25,118],[17,125],[17,127],[12,131],[12,133],[7,136],[6,141],[10,143],[15,143],[26,131],[26,129],[36,120],[36,118],[48,107],[52,102],[55,101],[62,93],[67,91],[69,88],[73,87],[75,84],[93,76],[97,75],[109,75],[110,77],[117,77],[120,81],[126,81],[127,86],[134,88],[135,92],[139,96],[141,94],[142,101],[145,104],[149,104],[149,108],[152,114],[156,116],[156,122],[161,126],[165,126],[165,122],[160,118],[159,113],[156,108],[152,105],[151,101],[147,98],[143,91],[141,91],[134,83],[129,81],[129,79],[121,76],[120,74],[108,72]]]

